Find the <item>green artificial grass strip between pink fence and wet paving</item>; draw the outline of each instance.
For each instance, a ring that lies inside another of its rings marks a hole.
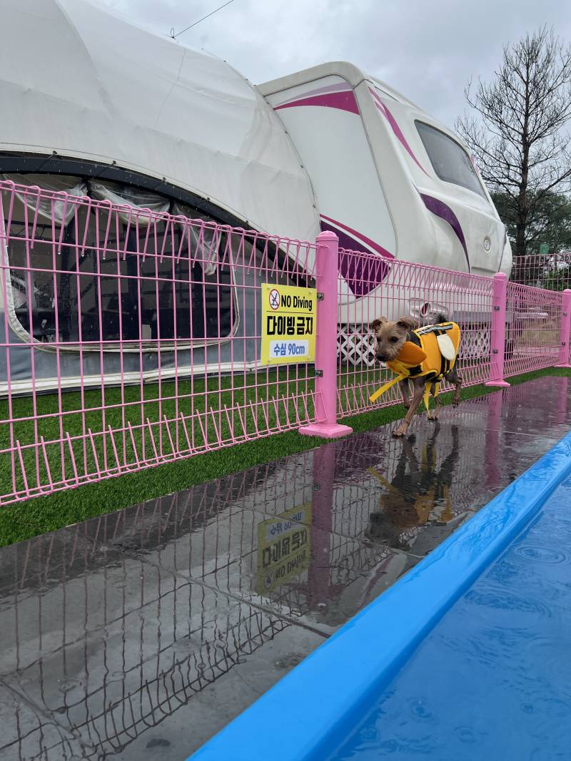
[[[546,368],[509,378],[512,385],[525,383],[537,377],[566,376],[566,368]],[[462,400],[474,399],[494,391],[483,385],[466,387]],[[442,394],[443,405],[451,403],[451,393]],[[25,402],[22,401],[21,404]],[[360,415],[345,417],[343,423],[356,433],[369,431],[400,419],[404,414],[402,405],[375,409]],[[69,524],[85,521],[120,508],[161,495],[187,489],[198,483],[236,473],[248,467],[270,463],[289,454],[307,451],[323,444],[320,438],[300,436],[297,431],[287,431],[268,438],[247,441],[219,451],[199,454],[186,460],[177,460],[155,468],[128,473],[117,478],[80,486],[47,497],[30,499],[8,505],[0,510],[0,546],[35,537],[46,531],[56,530]]]

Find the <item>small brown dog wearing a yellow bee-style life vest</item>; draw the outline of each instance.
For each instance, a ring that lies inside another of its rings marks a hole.
[[[398,386],[403,396],[403,403],[405,409],[407,409],[407,414],[403,422],[394,429],[393,436],[400,437],[406,435],[410,421],[413,419],[423,396],[428,406],[428,391],[435,399],[435,409],[429,410],[428,419],[438,419],[440,401],[437,391],[439,381],[443,377],[454,385],[455,391],[452,406],[458,407],[458,404],[460,404],[462,378],[458,375],[455,367],[455,359],[458,355],[458,345],[460,342],[460,328],[456,323],[446,322],[442,314],[438,315],[435,324],[422,327],[412,317],[400,317],[400,320],[396,321],[381,317],[378,320],[373,320],[371,330],[375,334],[376,339],[375,357],[379,362],[386,362],[394,372],[400,374]],[[448,335],[448,333],[455,339],[455,345],[447,339],[448,343],[446,346],[448,348],[442,352],[440,347],[443,344],[441,343],[440,336]],[[417,359],[424,357],[426,360],[427,358],[426,352],[423,351],[423,349],[426,349],[425,342],[429,343],[428,350],[432,354],[428,363],[432,369],[429,367],[428,370],[426,370],[425,361],[420,361],[419,364],[416,364]],[[407,358],[404,359],[405,364],[403,365],[403,361],[400,358],[406,353]],[[411,360],[409,357],[413,357],[413,359]],[[442,359],[442,364],[440,364],[440,359]],[[436,369],[435,361],[439,364],[438,369]],[[393,363],[395,366],[391,367]],[[412,398],[409,396],[411,381],[413,384]]]

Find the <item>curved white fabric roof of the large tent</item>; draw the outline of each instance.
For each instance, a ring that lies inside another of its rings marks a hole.
[[[4,0],[0,151],[111,164],[311,240],[311,185],[273,110],[227,63],[88,0]]]

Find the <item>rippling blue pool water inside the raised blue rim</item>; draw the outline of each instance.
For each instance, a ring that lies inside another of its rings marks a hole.
[[[331,761],[384,756],[571,759],[571,478],[451,607]]]

